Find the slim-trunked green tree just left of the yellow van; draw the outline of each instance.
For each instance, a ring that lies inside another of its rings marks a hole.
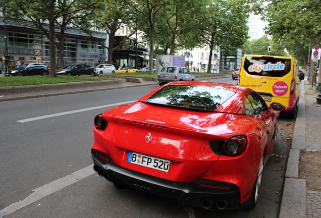
[[[207,73],[210,73],[212,51],[216,46],[229,52],[245,43],[249,9],[246,0],[216,0],[205,8],[197,31],[201,42],[210,48]]]

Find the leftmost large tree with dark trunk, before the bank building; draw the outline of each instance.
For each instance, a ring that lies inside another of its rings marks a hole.
[[[13,20],[24,20],[28,17],[31,26],[43,31],[49,39],[50,77],[56,77],[56,46],[58,48],[58,66],[63,65],[64,38],[69,25],[81,25],[83,18],[92,13],[90,7],[99,0],[9,0],[8,15]],[[49,13],[47,13],[47,11]],[[56,30],[59,26],[59,32]],[[84,24],[86,25],[86,24]],[[58,41],[56,42],[56,38]]]

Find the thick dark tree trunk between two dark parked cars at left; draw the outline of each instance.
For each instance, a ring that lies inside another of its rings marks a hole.
[[[57,77],[56,66],[56,43],[55,43],[55,18],[53,17],[53,9],[55,7],[55,0],[49,2],[49,48],[50,48],[50,72],[49,77]]]

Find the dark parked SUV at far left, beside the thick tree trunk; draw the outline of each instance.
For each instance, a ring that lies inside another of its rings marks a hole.
[[[49,74],[50,68],[42,63],[22,64],[16,69],[5,73],[5,76],[46,76]]]

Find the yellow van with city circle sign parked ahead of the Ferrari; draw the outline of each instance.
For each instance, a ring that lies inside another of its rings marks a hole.
[[[283,104],[288,118],[296,118],[300,81],[304,79],[304,74],[300,77],[295,58],[245,55],[237,85],[255,90],[268,106],[272,102]]]

